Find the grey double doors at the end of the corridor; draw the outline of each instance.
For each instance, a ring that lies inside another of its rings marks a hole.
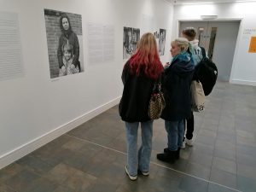
[[[240,21],[180,21],[179,34],[193,26],[199,46],[218,67],[218,80],[229,81]]]

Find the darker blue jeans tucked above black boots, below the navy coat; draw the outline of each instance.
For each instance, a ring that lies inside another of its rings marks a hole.
[[[170,151],[177,151],[177,148],[183,146],[184,123],[184,119],[179,121],[165,120],[168,135],[168,149]]]

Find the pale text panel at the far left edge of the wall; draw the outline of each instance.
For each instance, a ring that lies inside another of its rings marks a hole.
[[[18,14],[0,12],[0,81],[24,76]]]

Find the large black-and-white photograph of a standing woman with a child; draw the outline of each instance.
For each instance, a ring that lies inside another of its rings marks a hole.
[[[84,72],[82,15],[44,9],[50,79]]]

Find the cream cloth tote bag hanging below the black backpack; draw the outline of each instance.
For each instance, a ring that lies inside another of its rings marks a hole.
[[[206,96],[200,81],[192,81],[191,83],[192,110],[201,112],[205,108]]]

